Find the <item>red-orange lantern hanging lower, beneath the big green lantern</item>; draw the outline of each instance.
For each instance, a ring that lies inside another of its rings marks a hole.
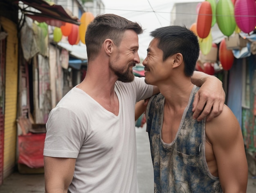
[[[230,70],[234,63],[234,54],[231,49],[227,49],[225,38],[220,42],[219,60],[224,70]]]

